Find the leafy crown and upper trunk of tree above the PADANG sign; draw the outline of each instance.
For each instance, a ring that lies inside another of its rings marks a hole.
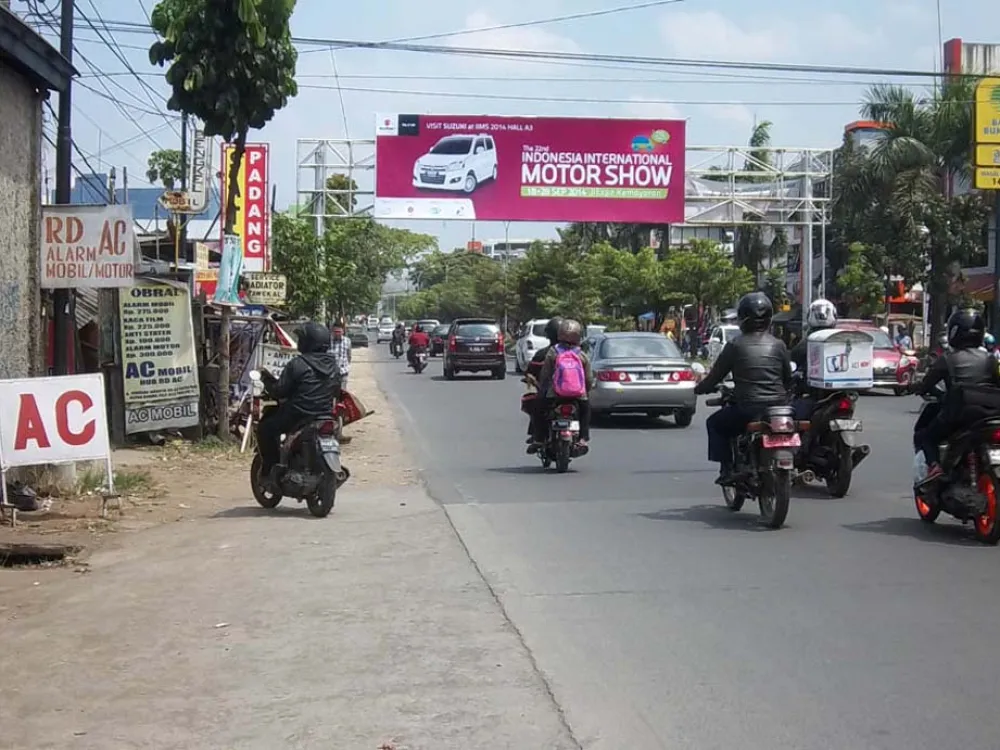
[[[226,196],[227,230],[235,215],[239,164],[247,133],[259,129],[298,89],[289,22],[295,0],[160,0],[152,26],[163,41],[149,48],[154,65],[169,65],[168,109],[205,124],[205,134],[233,143]]]

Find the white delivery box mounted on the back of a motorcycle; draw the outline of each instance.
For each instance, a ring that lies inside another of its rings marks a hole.
[[[809,334],[806,379],[811,388],[863,390],[875,381],[872,345],[864,331],[827,328]]]

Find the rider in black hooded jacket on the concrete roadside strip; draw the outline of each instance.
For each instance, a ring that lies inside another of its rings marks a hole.
[[[281,436],[312,419],[330,418],[340,392],[337,359],[328,352],[329,329],[313,321],[298,332],[299,353],[281,371],[281,377],[263,374],[267,392],[278,406],[265,411],[257,426],[262,475],[273,483],[281,459]]]

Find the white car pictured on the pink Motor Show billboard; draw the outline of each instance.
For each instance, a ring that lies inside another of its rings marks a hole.
[[[449,135],[413,164],[413,187],[468,195],[497,178],[497,149],[490,135]]]

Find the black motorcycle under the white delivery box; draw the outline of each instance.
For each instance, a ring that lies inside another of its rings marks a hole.
[[[871,453],[871,446],[860,440],[861,420],[854,418],[858,394],[812,390],[808,395],[809,429],[795,455],[796,479],[806,484],[822,480],[833,497],[844,497],[855,467]]]

